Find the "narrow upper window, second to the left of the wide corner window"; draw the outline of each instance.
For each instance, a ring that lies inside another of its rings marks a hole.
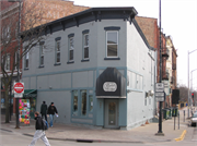
[[[69,62],[74,59],[74,34],[68,35],[69,38]]]

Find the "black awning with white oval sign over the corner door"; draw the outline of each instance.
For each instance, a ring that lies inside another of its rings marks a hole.
[[[107,68],[97,77],[96,98],[126,98],[126,78],[116,68]]]

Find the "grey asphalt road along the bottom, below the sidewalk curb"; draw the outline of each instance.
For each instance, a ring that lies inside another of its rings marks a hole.
[[[165,143],[151,143],[151,144],[137,144],[137,143],[79,143],[69,141],[53,141],[49,139],[51,146],[197,146],[197,131],[190,129],[192,135],[182,142],[165,142]],[[194,134],[194,135],[193,135]],[[24,136],[20,133],[5,132],[0,130],[0,146],[28,146],[32,137]],[[45,146],[42,139],[36,143],[36,146]]]

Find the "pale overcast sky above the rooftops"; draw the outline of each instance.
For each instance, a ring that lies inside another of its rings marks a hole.
[[[96,7],[134,7],[139,16],[159,20],[159,0],[72,0],[74,4]],[[172,36],[177,50],[177,83],[188,85],[188,51],[197,49],[197,0],[161,0],[161,25]],[[158,21],[159,22],[159,21]],[[197,89],[197,51],[189,53],[189,74]],[[196,71],[194,71],[196,70]],[[192,83],[192,82],[190,82]],[[192,84],[189,85],[192,86]]]

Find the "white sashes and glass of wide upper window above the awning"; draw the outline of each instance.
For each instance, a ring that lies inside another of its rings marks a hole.
[[[115,41],[109,42],[109,39],[108,39],[109,33],[113,33],[113,34],[115,33],[116,34],[115,39],[116,39],[117,42],[115,42]],[[118,57],[118,32],[117,31],[108,31],[108,32],[106,32],[106,57],[107,58]]]

